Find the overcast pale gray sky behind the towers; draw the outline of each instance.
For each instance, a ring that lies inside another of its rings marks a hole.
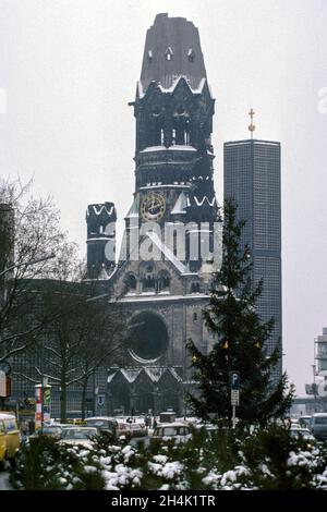
[[[222,144],[247,138],[250,107],[256,137],[281,141],[284,367],[303,394],[327,326],[326,0],[0,0],[0,175],[52,194],[81,254],[88,203],[113,200],[122,220],[134,190],[128,101],[159,12],[199,29],[218,199]]]

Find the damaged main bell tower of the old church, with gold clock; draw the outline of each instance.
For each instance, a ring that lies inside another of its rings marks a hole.
[[[126,232],[136,215],[140,224],[187,225],[183,263],[198,270],[203,261],[192,257],[190,239],[199,246],[203,232],[209,231],[213,251],[218,209],[211,146],[215,100],[192,22],[156,16],[146,35],[136,98],[130,105],[136,119],[135,193]],[[169,245],[164,233],[162,240]]]

